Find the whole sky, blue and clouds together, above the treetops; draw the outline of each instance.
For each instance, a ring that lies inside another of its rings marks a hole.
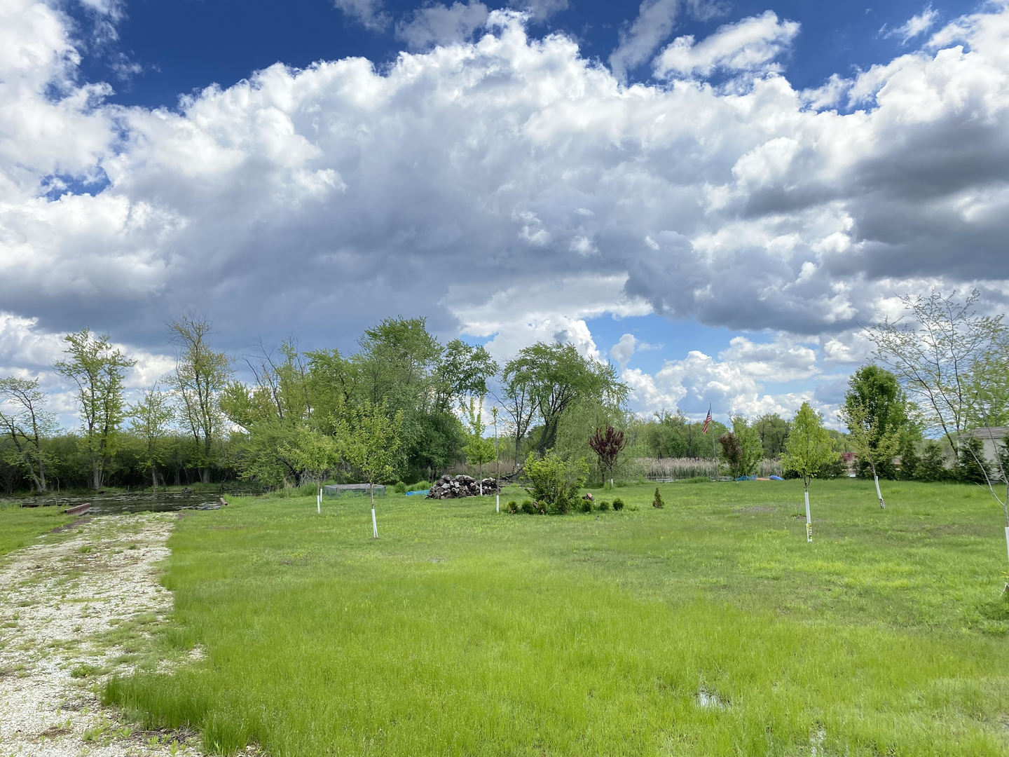
[[[988,3],[0,0],[0,374],[390,315],[561,339],[642,414],[835,422],[898,297],[1009,299]]]

